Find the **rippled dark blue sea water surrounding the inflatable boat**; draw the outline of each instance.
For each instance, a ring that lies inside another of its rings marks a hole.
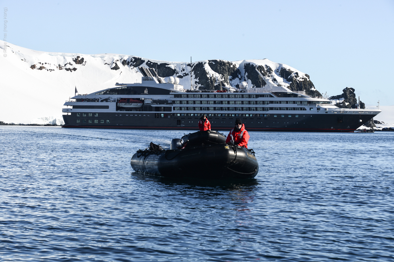
[[[0,260],[394,261],[394,132],[249,132],[252,180],[133,172],[184,133],[0,126]]]

